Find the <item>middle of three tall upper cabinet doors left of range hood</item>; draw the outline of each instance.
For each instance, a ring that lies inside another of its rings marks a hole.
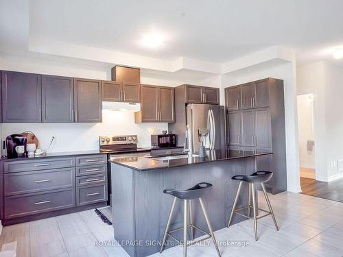
[[[73,122],[73,78],[42,75],[42,121]]]

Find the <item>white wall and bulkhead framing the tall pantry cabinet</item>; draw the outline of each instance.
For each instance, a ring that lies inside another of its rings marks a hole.
[[[222,87],[243,84],[265,77],[283,79],[285,91],[285,125],[287,158],[287,191],[300,192],[298,126],[296,115],[296,68],[295,62],[287,62],[268,69],[225,75]]]

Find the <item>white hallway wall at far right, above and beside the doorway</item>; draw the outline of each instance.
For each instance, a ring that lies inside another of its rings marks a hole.
[[[298,93],[314,93],[318,180],[343,178],[343,67],[314,62],[297,67]],[[317,174],[316,174],[317,175]]]

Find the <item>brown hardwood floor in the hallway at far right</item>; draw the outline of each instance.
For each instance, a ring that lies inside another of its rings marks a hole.
[[[304,195],[343,202],[343,179],[333,182],[322,182],[300,177],[300,185]]]

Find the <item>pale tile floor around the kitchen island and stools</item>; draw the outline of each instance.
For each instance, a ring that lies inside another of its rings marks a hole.
[[[272,218],[259,220],[259,241],[254,240],[252,221],[247,220],[215,232],[217,241],[248,241],[246,247],[220,247],[222,256],[343,256],[343,204],[326,199],[281,193],[270,195],[280,230]],[[259,207],[268,208],[263,195]],[[3,243],[17,241],[19,257],[112,257],[128,256],[119,246],[99,247],[95,241],[113,238],[112,226],[93,210],[21,223],[3,228]],[[154,257],[182,256],[182,247],[167,249]],[[213,247],[189,247],[188,256],[217,256]]]

